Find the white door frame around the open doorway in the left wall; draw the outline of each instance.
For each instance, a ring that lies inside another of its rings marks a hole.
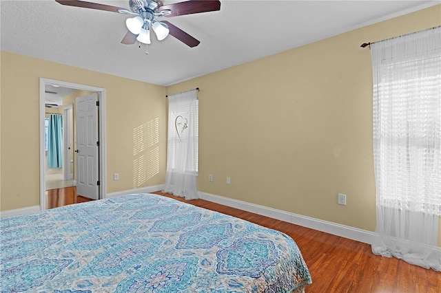
[[[58,85],[59,87],[70,87],[71,89],[82,89],[85,91],[95,91],[99,93],[99,195],[100,198],[105,198],[106,195],[106,182],[105,182],[105,89],[101,87],[92,87],[90,85],[80,85],[77,83],[68,83],[62,80],[53,80],[49,78],[40,79],[40,210],[46,208],[46,195],[45,195],[45,86],[46,85]]]

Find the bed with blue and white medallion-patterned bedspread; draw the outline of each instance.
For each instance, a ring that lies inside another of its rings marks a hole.
[[[302,292],[282,232],[153,194],[3,218],[1,292]]]

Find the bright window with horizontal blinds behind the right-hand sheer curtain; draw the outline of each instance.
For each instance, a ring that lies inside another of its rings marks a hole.
[[[441,214],[441,52],[396,42],[382,51],[374,80],[380,202]]]

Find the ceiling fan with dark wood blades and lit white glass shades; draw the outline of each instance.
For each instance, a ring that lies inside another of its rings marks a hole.
[[[161,0],[129,0],[130,10],[86,1],[55,1],[66,6],[134,15],[134,17],[125,21],[129,31],[125,34],[121,43],[126,45],[134,44],[136,41],[150,44],[150,29],[152,29],[158,41],[162,41],[168,34],[171,34],[189,47],[196,47],[201,43],[200,41],[194,39],[193,36],[190,36],[175,25],[172,25],[172,23],[159,21],[158,19],[161,17],[178,17],[185,14],[220,10],[220,1],[218,0],[189,0],[169,5],[163,5]]]

